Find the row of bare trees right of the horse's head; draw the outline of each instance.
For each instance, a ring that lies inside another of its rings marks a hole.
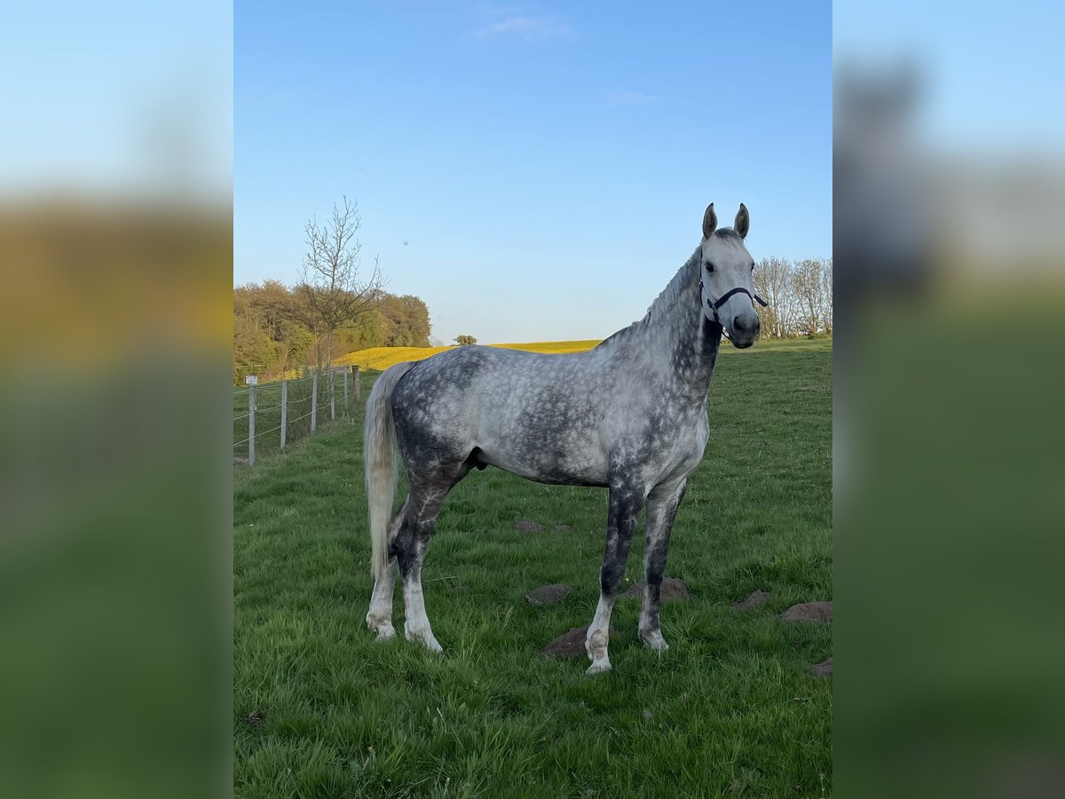
[[[764,258],[754,268],[761,338],[832,335],[832,259]]]

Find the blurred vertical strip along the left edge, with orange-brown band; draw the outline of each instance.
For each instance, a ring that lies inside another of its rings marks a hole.
[[[231,789],[231,20],[0,13],[0,796]]]

